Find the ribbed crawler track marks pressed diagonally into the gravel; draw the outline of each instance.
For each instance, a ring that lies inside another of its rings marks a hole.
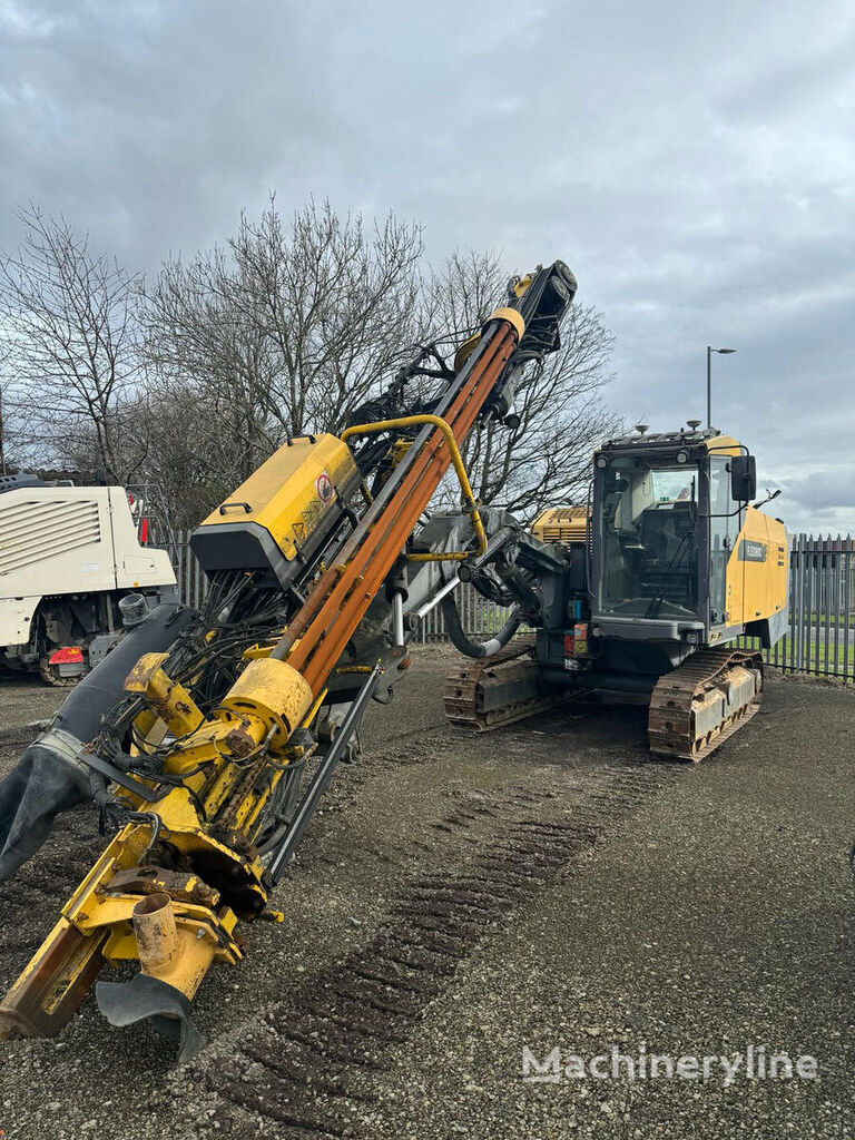
[[[572,804],[524,785],[463,797],[429,824],[448,847],[441,865],[402,885],[366,946],[177,1070],[168,1097],[185,1100],[182,1113],[188,1088],[199,1101],[190,1134],[370,1135],[372,1075],[461,963],[682,771],[598,767]]]

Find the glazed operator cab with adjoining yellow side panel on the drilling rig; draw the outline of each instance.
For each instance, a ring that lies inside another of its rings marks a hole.
[[[756,484],[754,456],[715,429],[603,445],[591,519],[594,634],[635,643],[636,658],[657,645],[673,665],[743,633],[776,640],[783,528],[750,506]]]

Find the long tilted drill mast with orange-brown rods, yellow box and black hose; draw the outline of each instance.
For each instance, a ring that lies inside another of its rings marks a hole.
[[[114,1025],[150,1021],[181,1060],[201,1048],[207,970],[239,962],[238,926],[269,914],[368,701],[408,668],[420,613],[506,526],[479,510],[461,446],[507,420],[575,293],[561,261],[513,279],[454,356],[420,348],[340,437],[287,439],[194,534],[199,611],[152,610],[25,751],[0,784],[0,878],[88,798],[113,838],[6,995],[1,1035],[56,1034],[96,984]],[[449,469],[462,510],[426,519]],[[128,961],[132,980],[96,980]]]

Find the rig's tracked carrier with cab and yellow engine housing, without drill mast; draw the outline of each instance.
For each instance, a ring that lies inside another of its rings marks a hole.
[[[763,658],[788,622],[789,545],[759,508],[756,461],[698,421],[644,431],[594,455],[592,499],[510,523],[458,575],[510,606],[504,633],[473,644],[454,597],[446,628],[470,662],[446,682],[446,712],[489,731],[604,690],[650,700],[653,754],[700,760],[756,712]],[[523,624],[528,637],[508,644]],[[507,648],[505,648],[507,646]]]

